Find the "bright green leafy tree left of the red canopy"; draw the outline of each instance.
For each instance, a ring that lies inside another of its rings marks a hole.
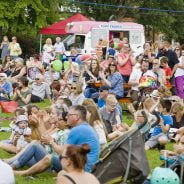
[[[58,0],[6,0],[0,2],[3,32],[35,35],[59,19]]]

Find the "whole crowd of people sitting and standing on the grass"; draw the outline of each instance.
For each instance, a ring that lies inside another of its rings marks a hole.
[[[42,57],[34,54],[24,60],[16,37],[12,42],[3,37],[0,101],[16,101],[18,108],[11,136],[0,148],[15,154],[3,160],[15,175],[49,169],[59,173],[58,184],[99,183],[90,172],[100,150],[145,120],[145,150],[164,149],[174,141],[174,151],[162,151],[162,158],[184,154],[184,45],[173,49],[167,41],[157,46],[146,42],[144,52],[135,57],[127,38],[116,48],[111,42],[105,55],[102,43],[100,39],[96,54],[71,48],[66,56],[61,39],[53,45],[48,38]],[[53,67],[56,59],[62,62],[60,72]],[[124,97],[130,99],[131,126],[123,118]],[[48,108],[34,104],[46,98]],[[17,170],[24,166],[28,169]]]

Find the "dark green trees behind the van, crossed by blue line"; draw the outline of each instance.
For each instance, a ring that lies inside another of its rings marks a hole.
[[[118,20],[123,17],[132,17],[149,30],[165,33],[167,38],[184,40],[184,34],[182,34],[184,32],[184,13],[159,11],[159,9],[184,11],[184,0],[73,0],[70,1],[70,4],[80,7],[82,13],[95,20],[108,21],[109,18]],[[113,7],[119,5],[126,6],[126,8]]]

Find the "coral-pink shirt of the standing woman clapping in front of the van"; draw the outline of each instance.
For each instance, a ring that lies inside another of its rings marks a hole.
[[[121,57],[122,59],[125,59],[126,54],[125,53],[120,53],[118,56]],[[119,73],[121,75],[128,75],[129,76],[132,73],[131,60],[128,59],[128,61],[123,66],[118,65],[118,70],[119,70]]]

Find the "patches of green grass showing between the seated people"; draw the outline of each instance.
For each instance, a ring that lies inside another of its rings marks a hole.
[[[48,101],[45,101],[43,103],[37,104],[40,108],[48,107],[49,103]],[[5,117],[12,117],[12,114],[1,114],[3,118]],[[123,112],[123,118],[124,122],[126,122],[128,125],[131,125],[133,122],[133,117],[128,114]],[[2,126],[8,127],[9,122],[8,121],[3,121]],[[7,132],[0,132],[0,140],[5,140],[9,137],[9,133]],[[172,144],[168,144],[166,149],[172,149]],[[0,150],[0,159],[1,158],[9,158],[13,155],[8,154],[7,152],[4,152],[3,150]],[[149,150],[147,151],[147,157],[149,160],[150,168],[153,170],[155,167],[159,166],[162,164],[162,162],[159,159],[159,151],[157,149],[155,150]],[[52,173],[43,173],[39,174],[34,178],[30,177],[16,177],[16,184],[54,184],[55,183],[55,175]]]

